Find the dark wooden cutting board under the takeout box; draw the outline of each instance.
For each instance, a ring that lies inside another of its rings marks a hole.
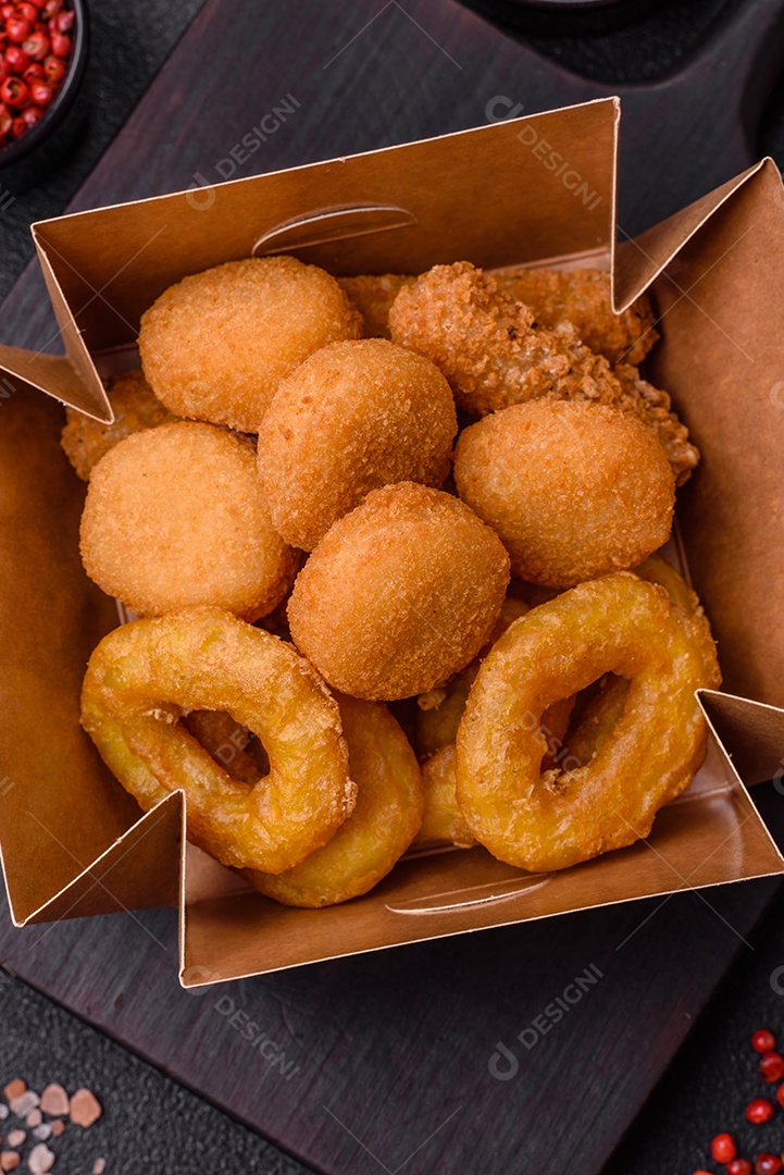
[[[614,90],[626,233],[756,155],[784,0],[730,8],[677,73]],[[535,113],[608,92],[453,0],[208,0],[72,207],[229,177],[231,148],[286,96],[295,113],[232,176],[480,125],[499,96]],[[34,268],[1,322],[20,347],[52,336]],[[197,994],[177,985],[171,911],[23,932],[4,915],[0,956],[319,1170],[596,1175],[778,889],[690,892]],[[535,1027],[587,973],[568,1013]]]

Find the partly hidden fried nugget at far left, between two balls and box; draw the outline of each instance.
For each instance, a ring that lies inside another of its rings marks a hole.
[[[138,368],[113,376],[107,384],[107,392],[114,411],[113,424],[103,424],[77,412],[75,408],[66,408],[68,423],[62,430],[60,444],[83,482],[89,481],[93,465],[119,441],[124,441],[131,432],[154,429],[158,424],[171,424],[180,418],[156,400]]]

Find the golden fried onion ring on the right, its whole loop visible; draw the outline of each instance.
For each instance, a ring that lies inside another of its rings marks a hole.
[[[707,624],[663,589],[617,572],[516,620],[477,676],[458,731],[458,801],[500,860],[561,870],[647,837],[702,764],[695,697],[719,682]],[[629,679],[623,714],[590,764],[540,773],[543,710],[604,673]]]

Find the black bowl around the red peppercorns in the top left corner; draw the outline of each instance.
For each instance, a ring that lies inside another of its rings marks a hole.
[[[61,156],[70,136],[69,123],[77,108],[76,98],[85,78],[89,41],[86,0],[70,0],[70,7],[76,19],[68,73],[41,121],[21,139],[0,148],[0,183],[11,192],[28,187],[41,177]]]

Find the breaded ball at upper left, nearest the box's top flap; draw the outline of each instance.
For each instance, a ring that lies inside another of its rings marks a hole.
[[[246,257],[169,287],[142,315],[138,349],[173,412],[256,432],[281,380],[319,347],[361,331],[326,270]]]

